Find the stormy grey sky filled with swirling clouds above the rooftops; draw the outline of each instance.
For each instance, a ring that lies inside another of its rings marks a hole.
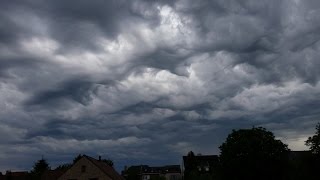
[[[0,171],[79,153],[118,170],[320,121],[319,0],[2,0]]]

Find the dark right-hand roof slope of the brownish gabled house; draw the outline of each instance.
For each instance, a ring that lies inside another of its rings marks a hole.
[[[87,158],[92,164],[97,166],[102,172],[104,172],[107,176],[109,176],[113,180],[124,180],[122,176],[120,176],[113,167],[109,166],[107,163],[96,160],[90,156],[83,155],[83,158]]]

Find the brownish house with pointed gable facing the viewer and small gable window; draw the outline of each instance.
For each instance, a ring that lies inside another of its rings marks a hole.
[[[92,157],[83,155],[58,180],[123,180],[113,167]]]

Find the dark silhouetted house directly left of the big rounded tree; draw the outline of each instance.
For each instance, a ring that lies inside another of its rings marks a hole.
[[[184,179],[216,179],[219,156],[218,155],[194,155],[193,152],[183,156]]]

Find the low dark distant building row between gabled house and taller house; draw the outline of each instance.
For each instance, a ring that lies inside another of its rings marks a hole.
[[[131,166],[122,172],[127,180],[181,180],[180,165],[150,167],[147,165]]]

